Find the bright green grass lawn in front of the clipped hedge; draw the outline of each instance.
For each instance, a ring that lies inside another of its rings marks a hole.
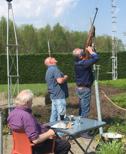
[[[126,79],[99,81],[99,84],[126,89]],[[75,87],[75,83],[69,83],[68,86],[69,88]],[[20,84],[19,89],[20,91],[23,89],[31,89],[35,96],[45,96],[47,93],[47,85],[45,83]],[[0,85],[0,93],[1,92],[4,92],[7,96],[7,84]],[[111,97],[111,99],[117,105],[126,108],[126,92],[114,95]]]

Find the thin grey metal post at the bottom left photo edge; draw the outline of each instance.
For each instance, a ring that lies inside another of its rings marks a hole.
[[[3,125],[2,125],[2,111],[0,111],[0,154],[3,154]]]

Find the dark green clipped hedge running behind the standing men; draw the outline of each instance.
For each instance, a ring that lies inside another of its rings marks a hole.
[[[20,83],[44,83],[46,66],[44,59],[47,54],[30,54],[19,55],[19,75]],[[69,76],[69,82],[74,82],[74,60],[71,54],[53,54],[58,60],[58,66],[64,74]],[[118,53],[118,78],[126,78],[126,52]],[[14,59],[15,56],[11,56]],[[12,63],[12,62],[11,62]],[[97,63],[100,65],[100,80],[109,80],[111,72],[111,53],[100,53],[100,60]],[[12,66],[12,68],[15,68]],[[11,69],[12,74],[15,74],[16,69]],[[0,83],[7,83],[7,58],[6,55],[0,55]]]

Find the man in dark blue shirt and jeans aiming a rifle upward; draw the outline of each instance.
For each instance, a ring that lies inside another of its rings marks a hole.
[[[90,111],[91,100],[91,86],[94,81],[93,64],[95,64],[99,57],[92,47],[88,47],[86,52],[89,53],[89,58],[86,58],[83,49],[76,48],[73,51],[75,56],[75,80],[77,85],[77,95],[79,97],[79,115],[88,117]]]

